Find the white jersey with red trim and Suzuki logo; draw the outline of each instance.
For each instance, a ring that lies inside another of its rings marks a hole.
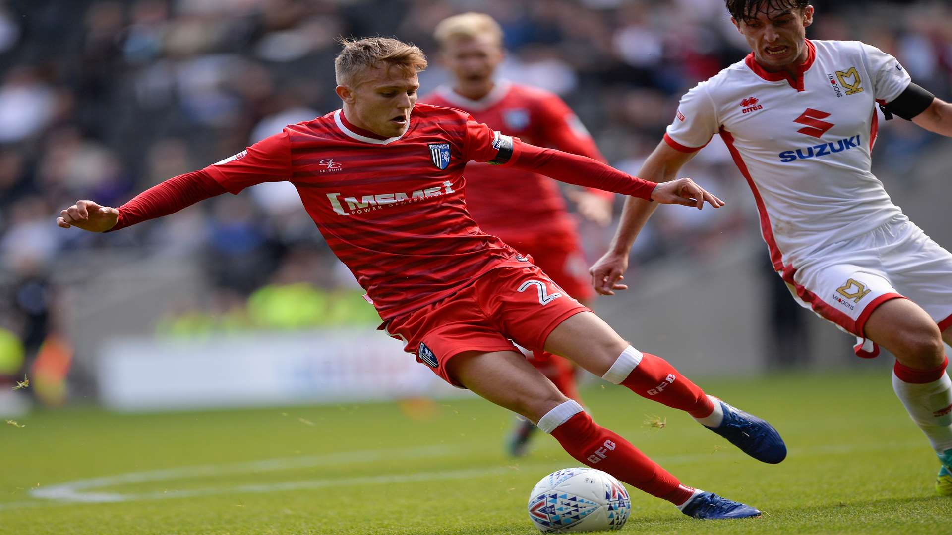
[[[870,172],[876,103],[910,83],[896,58],[858,41],[806,41],[797,76],[753,53],[682,97],[664,139],[686,152],[720,133],[753,190],[774,268],[902,216]]]

